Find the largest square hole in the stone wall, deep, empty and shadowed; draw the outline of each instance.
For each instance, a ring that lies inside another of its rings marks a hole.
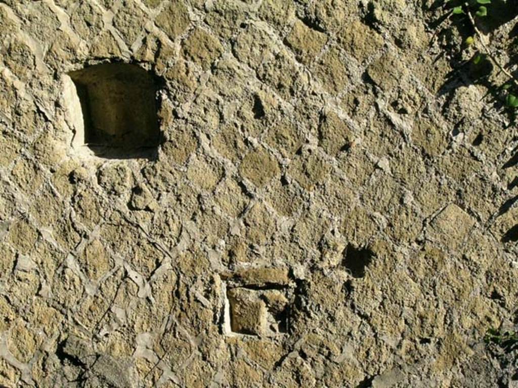
[[[156,156],[158,78],[137,65],[109,63],[71,71],[65,102],[72,146],[103,158]]]

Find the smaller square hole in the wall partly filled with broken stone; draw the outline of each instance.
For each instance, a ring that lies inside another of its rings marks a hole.
[[[290,283],[254,284],[234,278],[223,282],[223,296],[223,332],[226,335],[275,337],[290,332],[293,299]]]

